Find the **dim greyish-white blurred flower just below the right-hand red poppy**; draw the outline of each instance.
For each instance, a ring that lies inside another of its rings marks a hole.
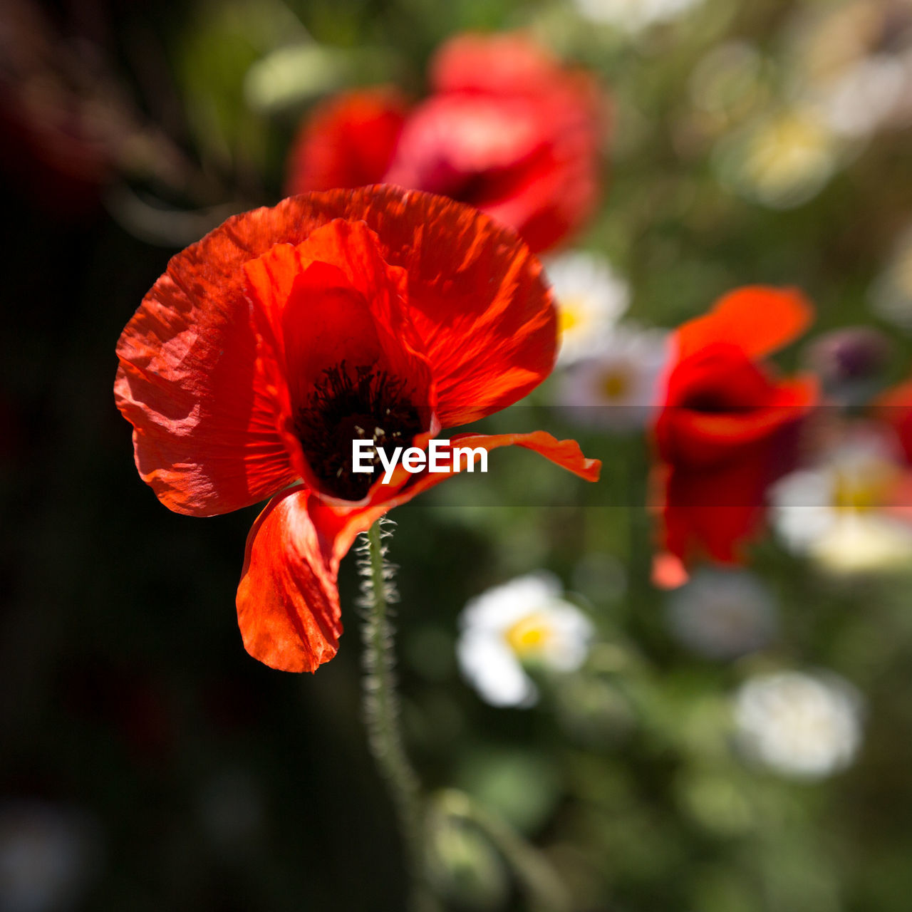
[[[743,570],[702,568],[668,598],[672,633],[706,658],[737,658],[762,649],[776,634],[769,589]]]

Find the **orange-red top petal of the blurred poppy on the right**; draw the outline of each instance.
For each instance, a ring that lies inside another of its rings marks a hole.
[[[801,335],[813,316],[813,306],[797,288],[737,288],[720,297],[708,314],[679,327],[678,359],[691,358],[715,342],[761,358]]]

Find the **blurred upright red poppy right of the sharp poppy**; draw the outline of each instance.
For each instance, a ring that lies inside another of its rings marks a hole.
[[[679,327],[655,426],[666,557],[736,562],[762,523],[765,491],[789,468],[788,431],[813,407],[817,383],[776,378],[760,359],[811,314],[795,289],[751,286]],[[660,576],[670,579],[674,563],[659,562]]]

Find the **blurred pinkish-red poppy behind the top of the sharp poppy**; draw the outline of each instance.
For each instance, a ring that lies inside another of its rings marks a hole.
[[[468,202],[515,228],[534,251],[586,220],[603,131],[592,78],[523,36],[470,35],[440,48],[430,82],[430,98],[401,124],[399,98],[389,91],[350,93],[319,110],[295,143],[289,190],[322,189],[326,174],[346,178],[340,186],[368,181],[349,167],[357,147],[359,161],[369,150],[373,163],[387,162],[372,180]],[[369,117],[386,125],[373,134],[364,126],[372,105]]]

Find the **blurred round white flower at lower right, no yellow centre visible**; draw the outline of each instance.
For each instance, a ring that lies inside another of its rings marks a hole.
[[[831,673],[783,671],[752,678],[734,700],[738,745],[774,772],[823,778],[855,759],[862,709],[855,687]]]

